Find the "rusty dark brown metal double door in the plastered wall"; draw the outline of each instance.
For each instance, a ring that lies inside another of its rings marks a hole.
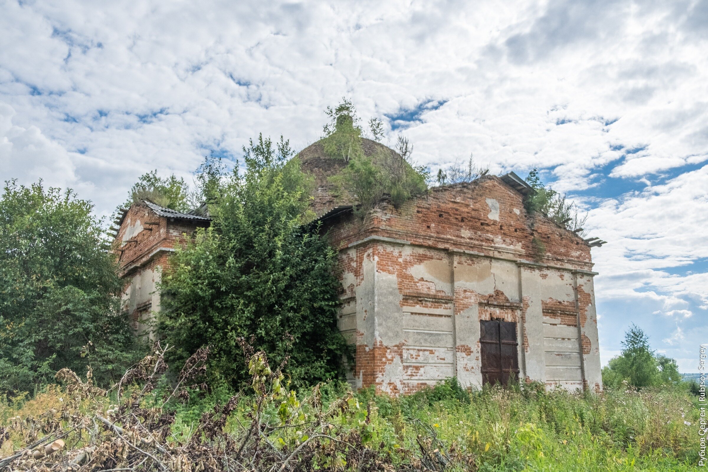
[[[480,321],[479,343],[482,355],[482,381],[508,385],[510,376],[519,374],[516,323]]]

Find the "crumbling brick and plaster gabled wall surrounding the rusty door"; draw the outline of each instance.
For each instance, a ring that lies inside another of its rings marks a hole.
[[[523,378],[601,385],[590,247],[528,215],[501,178],[433,188],[400,208],[384,200],[363,221],[341,210],[322,221],[341,254],[341,326],[357,333],[354,386],[395,395],[457,376],[479,387],[479,322],[491,319],[517,323]]]

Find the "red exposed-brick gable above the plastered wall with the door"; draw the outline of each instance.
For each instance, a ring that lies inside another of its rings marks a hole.
[[[580,236],[537,215],[527,217],[523,197],[499,178],[433,188],[400,209],[382,203],[360,221],[353,215],[333,224],[331,241],[347,246],[371,235],[438,248],[457,248],[514,260],[539,260],[549,265],[590,270],[590,247]],[[537,251],[536,238],[545,246]]]

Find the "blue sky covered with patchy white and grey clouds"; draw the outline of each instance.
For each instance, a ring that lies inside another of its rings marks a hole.
[[[609,241],[593,249],[603,362],[636,323],[697,372],[708,0],[99,3],[0,0],[1,180],[110,214],[140,174],[190,178],[258,132],[302,149],[346,96],[433,172],[470,153],[542,169]]]

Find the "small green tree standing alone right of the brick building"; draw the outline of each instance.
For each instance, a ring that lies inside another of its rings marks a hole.
[[[680,384],[676,361],[651,350],[649,337],[638,326],[633,324],[624,334],[622,348],[622,354],[603,367],[603,384],[616,388],[622,382],[636,388]]]

